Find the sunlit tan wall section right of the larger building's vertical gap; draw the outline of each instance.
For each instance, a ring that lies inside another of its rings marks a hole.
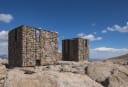
[[[58,55],[58,34],[53,32],[41,32],[41,52],[43,53],[41,56],[43,57],[41,60],[42,64],[47,62],[54,62],[57,60]]]

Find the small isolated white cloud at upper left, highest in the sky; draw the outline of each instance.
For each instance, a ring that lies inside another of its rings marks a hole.
[[[13,16],[11,14],[0,14],[0,21],[5,23],[10,23],[13,20]]]

